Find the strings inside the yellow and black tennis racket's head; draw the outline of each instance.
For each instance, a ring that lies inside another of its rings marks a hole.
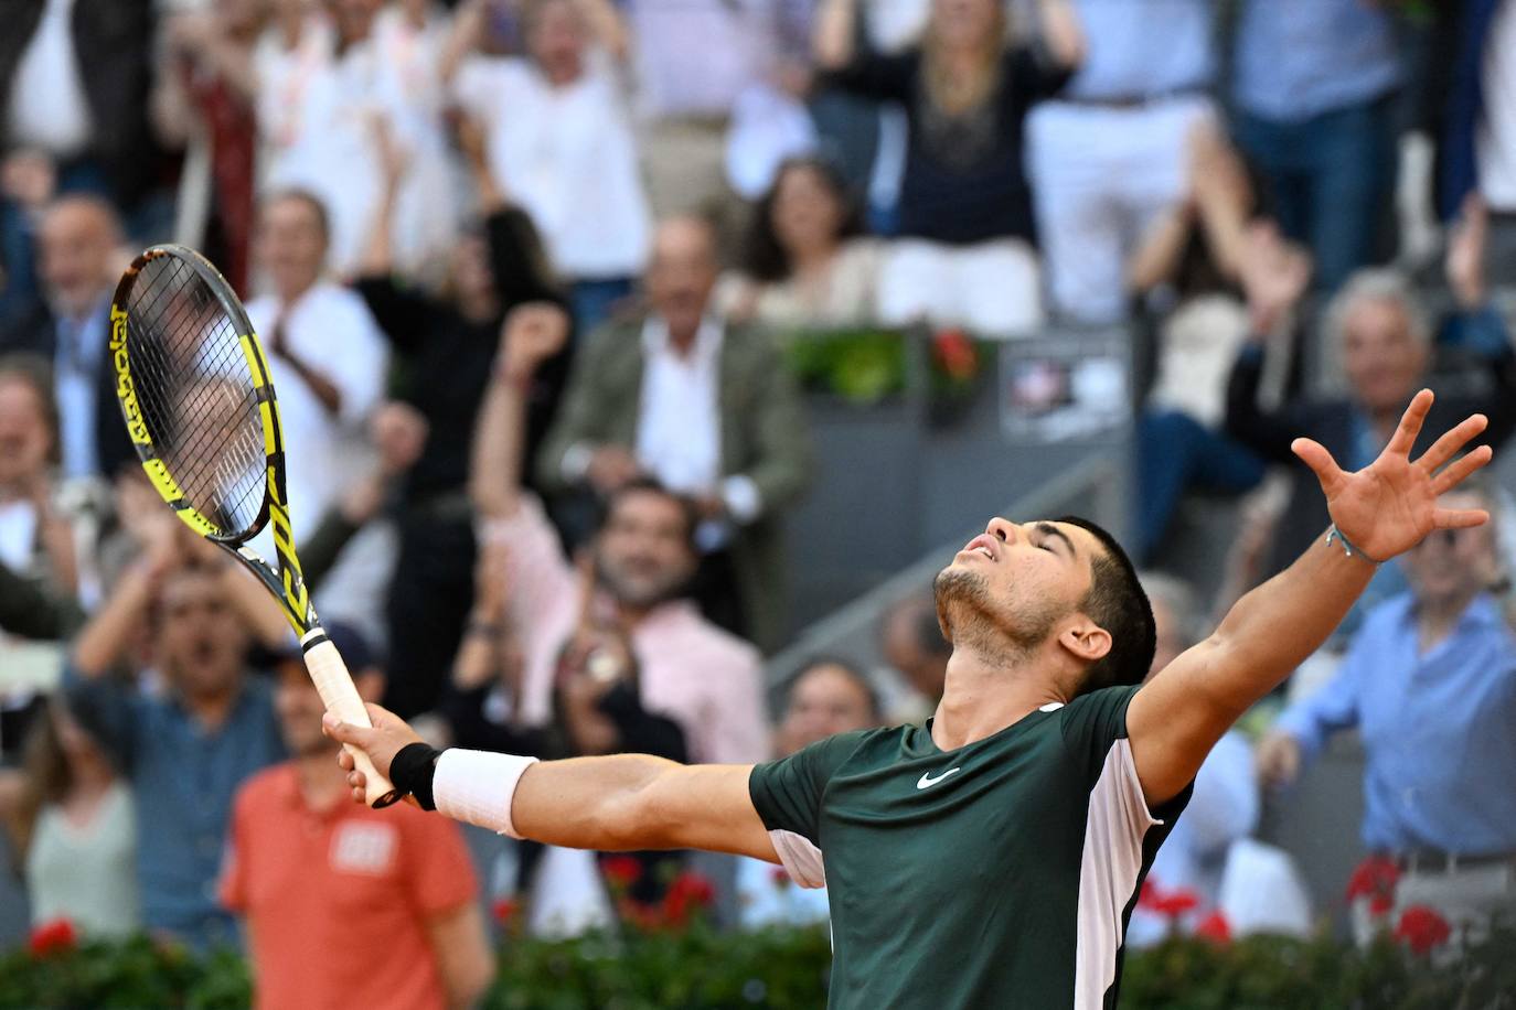
[[[220,298],[188,262],[155,257],[132,288],[126,339],[143,422],[186,503],[224,535],[250,531],[267,480],[262,419]]]

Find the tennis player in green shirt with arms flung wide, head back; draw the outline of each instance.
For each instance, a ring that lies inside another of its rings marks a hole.
[[[1143,874],[1211,745],[1325,641],[1378,560],[1487,519],[1437,504],[1489,462],[1483,445],[1454,460],[1483,416],[1410,457],[1431,401],[1417,394],[1358,472],[1298,439],[1334,525],[1142,689],[1152,612],[1120,547],[1082,519],[991,519],[937,575],[954,654],[925,725],[756,766],[438,754],[382,709],[374,728],[326,728],[423,807],[505,834],[740,853],[825,881],[832,1007],[1111,1007]]]

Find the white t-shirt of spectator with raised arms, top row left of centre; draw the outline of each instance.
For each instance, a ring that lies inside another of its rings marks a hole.
[[[652,215],[625,89],[606,55],[591,53],[584,76],[562,88],[531,61],[475,56],[453,88],[487,124],[490,168],[532,217],[559,274],[641,273]]]

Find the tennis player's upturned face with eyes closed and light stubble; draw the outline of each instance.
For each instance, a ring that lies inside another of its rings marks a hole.
[[[1101,551],[1066,522],[994,518],[937,574],[937,612],[955,645],[1031,650],[1073,613]]]

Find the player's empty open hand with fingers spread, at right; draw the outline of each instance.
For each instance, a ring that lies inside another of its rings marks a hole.
[[[1490,447],[1481,445],[1449,463],[1484,430],[1483,413],[1445,432],[1420,459],[1411,460],[1411,447],[1431,403],[1431,389],[1417,392],[1390,444],[1373,463],[1355,474],[1337,466],[1319,442],[1302,438],[1290,447],[1316,472],[1333,522],[1373,560],[1389,560],[1416,547],[1433,530],[1480,525],[1490,518],[1484,509],[1437,507],[1439,495],[1490,462]]]

